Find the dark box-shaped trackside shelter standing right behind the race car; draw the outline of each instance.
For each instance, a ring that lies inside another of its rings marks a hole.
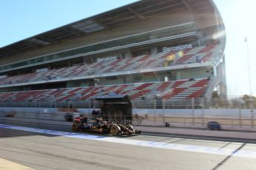
[[[131,120],[131,99],[128,95],[104,95],[95,98],[99,101],[101,116],[109,121]]]

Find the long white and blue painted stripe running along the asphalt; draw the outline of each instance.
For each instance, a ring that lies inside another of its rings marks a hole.
[[[29,128],[29,127],[23,127],[23,126],[12,126],[12,125],[6,125],[6,124],[0,124],[0,128],[16,129],[16,130],[22,130],[26,132],[36,132],[36,133],[47,134],[47,135],[74,137],[74,138],[87,139],[87,140],[99,140],[99,141],[105,141],[105,142],[111,142],[111,143],[122,143],[122,144],[134,145],[134,146],[145,146],[145,147],[158,148],[158,149],[172,149],[172,150],[187,151],[187,152],[200,152],[200,153],[221,154],[221,155],[232,154],[232,156],[234,157],[249,157],[249,158],[256,159],[256,152],[241,151],[237,149],[219,149],[219,148],[208,147],[208,146],[195,146],[195,145],[185,145],[185,144],[177,144],[177,143],[162,143],[162,142],[154,142],[154,141],[147,141],[147,140],[133,140],[133,139],[126,139],[126,138],[124,139],[119,137],[106,137],[106,136],[79,134],[79,133],[73,133],[73,132],[61,132],[61,131],[47,130],[47,129],[36,129],[36,128]]]

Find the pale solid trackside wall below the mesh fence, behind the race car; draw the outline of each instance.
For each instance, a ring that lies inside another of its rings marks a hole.
[[[93,109],[76,109],[91,118]],[[15,112],[15,118],[65,121],[65,115],[56,108],[1,107],[0,120]],[[217,121],[221,129],[256,131],[255,109],[133,109],[134,125],[173,126],[207,129],[207,123]]]

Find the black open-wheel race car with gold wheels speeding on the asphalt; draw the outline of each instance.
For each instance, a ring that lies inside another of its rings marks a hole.
[[[92,118],[87,121],[87,118],[80,117],[75,118],[72,125],[73,132],[85,131],[85,132],[98,132],[107,133],[113,136],[116,135],[134,135],[139,134],[141,131],[134,130],[134,127],[130,124],[122,125],[117,123],[108,123],[102,118]]]

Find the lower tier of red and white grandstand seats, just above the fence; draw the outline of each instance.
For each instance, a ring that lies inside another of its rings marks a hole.
[[[209,86],[209,78],[185,79],[168,82],[149,82],[138,84],[119,84],[109,86],[89,86],[65,89],[45,89],[24,92],[1,92],[0,101],[85,101],[100,95],[130,95],[131,99],[146,98],[159,92],[163,99],[182,100],[201,98]]]

